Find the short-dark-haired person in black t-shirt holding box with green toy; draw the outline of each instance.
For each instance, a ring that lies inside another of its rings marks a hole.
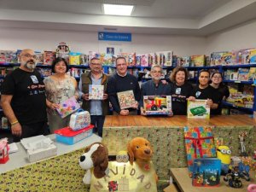
[[[210,82],[210,73],[209,71],[203,69],[199,73],[199,84],[195,87],[194,98],[191,99],[204,99],[207,100],[207,106],[211,108],[211,114],[214,114],[212,109],[218,108],[219,96],[218,91],[213,89],[209,84]]]

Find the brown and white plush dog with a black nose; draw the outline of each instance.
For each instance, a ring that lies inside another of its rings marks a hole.
[[[79,165],[87,170],[83,178],[85,184],[90,184],[91,172],[96,178],[104,177],[108,168],[108,148],[102,143],[90,144],[80,156]]]

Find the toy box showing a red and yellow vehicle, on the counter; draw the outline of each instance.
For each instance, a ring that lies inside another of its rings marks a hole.
[[[172,96],[143,96],[143,106],[147,115],[170,115]]]

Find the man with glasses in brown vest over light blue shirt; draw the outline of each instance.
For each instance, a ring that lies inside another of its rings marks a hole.
[[[103,85],[104,94],[103,100],[89,100],[89,85]],[[90,60],[90,73],[81,75],[79,81],[79,95],[83,98],[82,108],[90,112],[90,123],[95,125],[94,131],[98,131],[98,135],[102,137],[102,129],[105,120],[105,115],[108,114],[109,102],[108,94],[106,93],[108,84],[108,76],[102,73],[101,61],[94,57]]]

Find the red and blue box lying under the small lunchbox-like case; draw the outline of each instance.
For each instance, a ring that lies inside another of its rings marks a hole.
[[[78,143],[84,138],[90,137],[92,135],[93,127],[94,125],[89,125],[79,131],[73,131],[70,127],[67,126],[60,130],[56,130],[56,141],[66,143],[68,145],[73,145],[74,143]]]

